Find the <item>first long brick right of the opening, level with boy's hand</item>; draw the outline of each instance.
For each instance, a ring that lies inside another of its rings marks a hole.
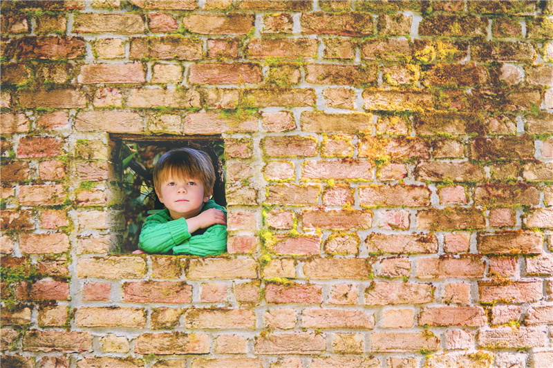
[[[303,211],[304,229],[369,229],[373,224],[371,211],[306,210]]]

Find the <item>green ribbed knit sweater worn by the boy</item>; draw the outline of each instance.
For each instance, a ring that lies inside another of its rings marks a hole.
[[[224,207],[209,200],[202,211],[220,209],[227,214]],[[173,220],[169,210],[165,209],[147,217],[142,224],[138,248],[146,253],[158,254],[191,254],[219,255],[227,250],[227,226],[214,224],[200,235],[190,235],[184,217]]]

